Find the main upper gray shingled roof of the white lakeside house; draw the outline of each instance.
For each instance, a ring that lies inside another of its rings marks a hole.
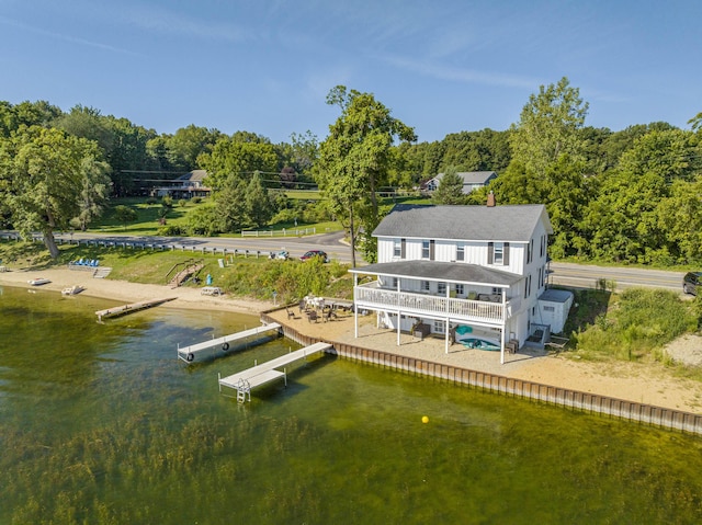
[[[542,216],[546,231],[553,233],[543,204],[492,207],[397,204],[375,228],[373,236],[529,242]]]

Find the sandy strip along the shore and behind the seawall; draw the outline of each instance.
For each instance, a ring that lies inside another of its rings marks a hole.
[[[86,288],[81,294],[112,299],[117,303],[126,304],[176,297],[174,300],[166,303],[159,308],[218,309],[259,315],[274,307],[270,301],[229,298],[226,295],[220,297],[206,296],[202,295],[199,288],[171,288],[170,286],[92,278],[89,273],[68,269],[52,269],[41,272],[0,272],[0,285],[32,288],[27,281],[37,277],[50,281],[50,283],[42,285],[43,289],[52,289],[60,294],[60,290],[66,287],[81,285]],[[374,316],[359,318],[359,336],[356,338],[354,316],[351,313],[328,322],[309,322],[297,307],[291,308],[290,311],[294,317],[291,318],[285,309],[274,312],[273,317],[312,336],[544,385],[702,413],[702,384],[676,377],[673,372],[659,363],[579,362],[550,352],[522,350],[517,354],[507,354],[506,363],[502,365],[499,352],[467,350],[454,344],[446,353],[443,339],[428,338],[420,341],[411,335],[401,334],[398,345],[397,333],[377,329]],[[667,351],[676,359],[697,365],[702,363],[702,339],[699,336],[686,335],[671,344]]]

